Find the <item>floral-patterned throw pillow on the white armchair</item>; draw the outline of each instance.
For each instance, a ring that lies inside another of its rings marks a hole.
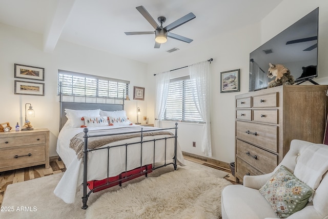
[[[259,192],[279,218],[286,218],[305,207],[313,190],[286,167],[280,166]]]

